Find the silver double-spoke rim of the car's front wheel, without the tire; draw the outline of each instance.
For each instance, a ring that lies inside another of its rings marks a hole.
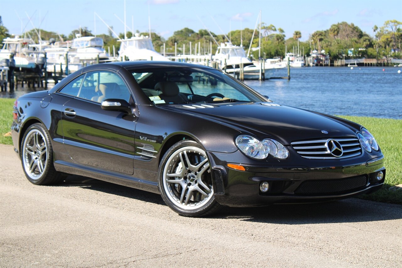
[[[213,196],[211,170],[205,151],[194,146],[175,151],[163,171],[168,198],[186,210],[202,207]]]

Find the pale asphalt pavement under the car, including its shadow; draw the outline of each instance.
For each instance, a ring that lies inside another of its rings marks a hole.
[[[351,198],[180,217],[158,194],[25,178],[0,145],[1,267],[402,267],[402,206]]]

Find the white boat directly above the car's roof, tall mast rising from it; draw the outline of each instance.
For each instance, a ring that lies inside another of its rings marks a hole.
[[[131,38],[117,40],[121,42],[119,49],[119,57],[125,59],[127,57],[130,61],[135,60],[154,60],[154,61],[169,61],[168,58],[160,55],[155,51],[152,39],[148,36],[135,35]]]

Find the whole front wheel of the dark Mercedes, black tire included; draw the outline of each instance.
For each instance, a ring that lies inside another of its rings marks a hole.
[[[179,175],[168,176],[170,174]],[[213,194],[207,154],[195,141],[183,140],[170,147],[162,158],[158,177],[162,199],[179,215],[202,217],[223,207]],[[172,183],[174,180],[180,183]]]

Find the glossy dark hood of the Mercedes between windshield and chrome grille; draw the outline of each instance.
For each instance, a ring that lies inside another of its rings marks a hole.
[[[268,105],[275,106],[268,106]],[[191,104],[186,106],[192,106]],[[214,108],[176,107],[209,120],[225,121],[257,138],[274,138],[285,144],[292,141],[330,137],[356,137],[356,129],[346,123],[312,111],[266,103],[224,103]],[[199,106],[199,105],[196,105]],[[328,131],[328,134],[322,131]]]

